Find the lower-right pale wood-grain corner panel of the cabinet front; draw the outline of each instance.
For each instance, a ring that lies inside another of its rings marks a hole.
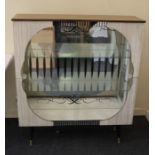
[[[137,89],[137,78],[133,78],[133,83],[130,91],[128,92],[127,100],[115,116],[105,121],[100,121],[100,125],[125,125],[132,124],[133,112],[135,106],[136,89]]]

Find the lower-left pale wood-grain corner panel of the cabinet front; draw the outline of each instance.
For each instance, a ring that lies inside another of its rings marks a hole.
[[[16,79],[16,83],[19,126],[52,126],[52,122],[39,118],[31,111],[22,88],[22,80]]]

